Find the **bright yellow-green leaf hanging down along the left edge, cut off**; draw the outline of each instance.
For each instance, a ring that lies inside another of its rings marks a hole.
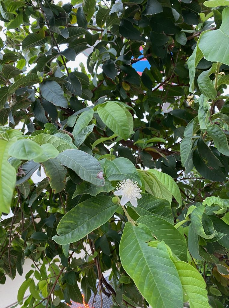
[[[8,149],[14,140],[0,139],[0,212],[10,213],[11,200],[16,183],[16,170],[8,162]]]

